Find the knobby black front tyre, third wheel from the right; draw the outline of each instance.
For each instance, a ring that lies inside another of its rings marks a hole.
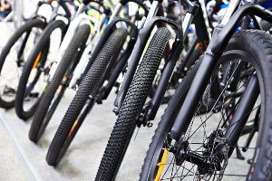
[[[102,84],[103,73],[106,71],[109,62],[117,59],[126,37],[126,29],[116,29],[104,44],[101,52],[94,60],[91,69],[83,78],[83,81],[80,84],[72,103],[66,111],[48,149],[46,161],[49,165],[56,166],[65,154],[67,148],[70,146],[78,129],[80,129],[83,124],[83,120],[91,109],[90,106],[94,103],[89,102],[92,105],[84,106],[90,96],[90,92],[92,97],[95,97],[97,91],[100,89],[100,85]]]

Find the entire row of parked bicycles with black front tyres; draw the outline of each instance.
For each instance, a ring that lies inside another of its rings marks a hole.
[[[49,19],[38,14],[45,4]],[[36,143],[65,90],[76,91],[47,152],[56,166],[95,103],[117,87],[117,119],[95,180],[115,179],[134,129],[151,127],[161,103],[168,108],[141,180],[271,180],[271,7],[255,0],[40,1],[2,49],[0,106],[32,119],[28,136]],[[229,161],[234,150],[244,159],[240,149],[250,157],[243,165]]]

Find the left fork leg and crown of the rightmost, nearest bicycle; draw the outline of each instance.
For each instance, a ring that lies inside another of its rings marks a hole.
[[[227,47],[231,36],[235,33],[239,21],[247,14],[256,14],[264,20],[272,22],[272,13],[265,8],[259,5],[243,5],[232,15],[230,20],[227,21],[228,24],[226,24],[224,28],[222,28],[222,25],[219,25],[214,30],[213,38],[209,43],[208,50],[205,52],[203,62],[201,62],[199,66],[199,71],[192,81],[187,97],[184,100],[178,117],[175,119],[175,123],[170,131],[171,138],[182,140],[183,135],[189,128],[190,120],[197,110],[198,102],[204,93],[203,87],[209,82],[212,71],[214,71],[217,62],[219,61],[219,57]]]

